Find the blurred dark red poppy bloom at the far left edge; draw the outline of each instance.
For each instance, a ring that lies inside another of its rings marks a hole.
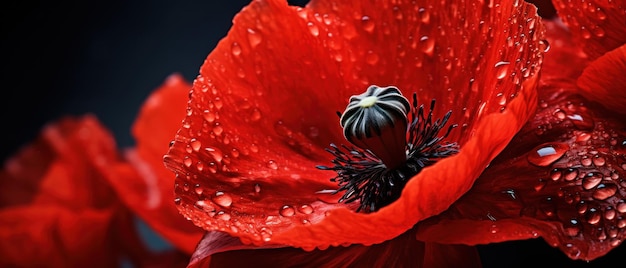
[[[91,117],[65,118],[0,172],[0,266],[111,267],[120,205],[102,173],[115,142]]]

